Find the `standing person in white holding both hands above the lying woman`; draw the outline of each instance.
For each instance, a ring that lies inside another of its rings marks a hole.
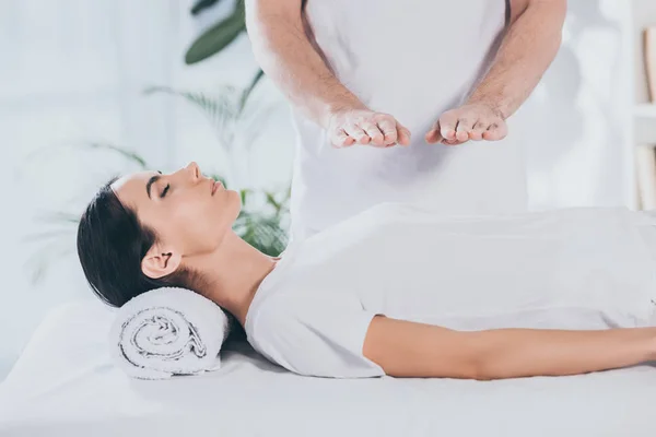
[[[525,210],[524,154],[506,120],[553,60],[565,10],[565,0],[246,0],[256,58],[294,113],[292,238],[385,201]]]

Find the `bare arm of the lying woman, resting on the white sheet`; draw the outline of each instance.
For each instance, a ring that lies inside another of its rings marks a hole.
[[[577,375],[656,359],[656,328],[461,332],[377,316],[363,353],[395,377]]]

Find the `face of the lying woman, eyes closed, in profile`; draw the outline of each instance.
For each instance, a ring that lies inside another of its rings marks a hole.
[[[196,163],[172,174],[143,172],[112,188],[139,221],[154,229],[163,247],[181,256],[213,251],[239,214],[239,194],[202,176]]]

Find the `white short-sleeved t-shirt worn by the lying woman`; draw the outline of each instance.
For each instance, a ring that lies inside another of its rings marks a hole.
[[[380,204],[292,244],[246,333],[289,370],[351,378],[383,375],[362,354],[375,315],[459,330],[649,324],[655,223],[624,209],[445,218]]]

